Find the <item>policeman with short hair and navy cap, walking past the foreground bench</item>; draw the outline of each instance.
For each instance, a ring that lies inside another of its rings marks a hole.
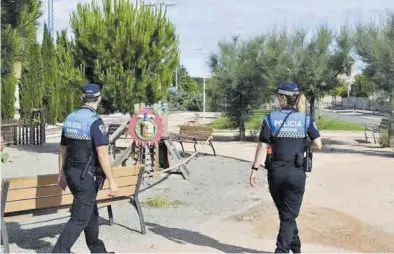
[[[84,105],[71,113],[63,125],[58,184],[63,190],[68,185],[74,202],[71,218],[53,248],[55,253],[69,253],[82,231],[92,253],[107,252],[98,238],[96,197],[99,188],[96,179],[102,174],[101,169],[109,181],[111,195],[115,195],[117,185],[111,172],[108,135],[103,120],[96,113],[101,101],[99,86],[85,85],[83,100]]]

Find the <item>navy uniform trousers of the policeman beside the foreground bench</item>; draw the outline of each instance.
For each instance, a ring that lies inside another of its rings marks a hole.
[[[64,170],[67,185],[74,196],[71,217],[55,244],[53,253],[70,253],[71,247],[84,231],[86,243],[92,253],[105,253],[105,246],[99,236],[97,191],[94,178],[86,174],[81,179],[82,169],[67,168]]]

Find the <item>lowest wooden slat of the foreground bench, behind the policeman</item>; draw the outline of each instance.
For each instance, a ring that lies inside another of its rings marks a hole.
[[[134,194],[136,186],[127,186],[118,188],[118,196],[130,197]],[[101,190],[97,195],[97,200],[103,200],[110,198],[110,190]],[[5,213],[40,209],[40,208],[50,208],[70,205],[73,203],[73,196],[71,194],[62,195],[57,197],[48,197],[40,199],[28,199],[21,201],[7,202],[5,207]]]

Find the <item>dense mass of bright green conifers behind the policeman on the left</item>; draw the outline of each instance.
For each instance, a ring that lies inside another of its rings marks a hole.
[[[166,99],[179,65],[179,42],[163,6],[128,0],[79,3],[70,17],[73,38],[65,30],[52,36],[45,25],[39,43],[41,4],[2,2],[3,120],[14,117],[16,86],[21,116],[44,108],[48,123],[63,121],[80,104],[80,89],[87,82],[101,86],[107,100],[100,111],[105,113],[131,112],[134,103]]]

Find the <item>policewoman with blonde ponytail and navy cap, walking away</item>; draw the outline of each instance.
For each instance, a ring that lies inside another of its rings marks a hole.
[[[280,218],[276,253],[288,253],[290,250],[293,253],[301,252],[296,218],[305,191],[303,157],[306,135],[312,140],[313,146],[319,150],[322,147],[313,118],[295,109],[299,95],[300,88],[297,84],[280,84],[277,99],[281,109],[272,111],[263,120],[250,176],[250,184],[255,187],[256,172],[264,157],[264,151],[267,150],[267,144],[270,144],[272,161],[265,167],[268,167],[269,191]]]

